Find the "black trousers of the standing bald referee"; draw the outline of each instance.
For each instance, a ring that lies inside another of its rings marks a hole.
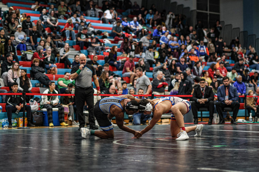
[[[89,112],[89,125],[90,128],[95,124],[94,122],[94,89],[89,87],[88,89],[75,88],[75,100],[77,105],[77,115],[79,120],[79,127],[82,128],[85,126],[84,119],[84,105],[85,102],[88,105]]]

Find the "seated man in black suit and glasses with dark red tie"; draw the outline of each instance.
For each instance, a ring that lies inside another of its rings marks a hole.
[[[198,108],[207,107],[210,111],[210,119],[208,124],[212,124],[214,113],[214,94],[211,87],[205,85],[205,79],[200,79],[199,86],[194,88],[193,102],[191,104],[194,124],[198,124]]]

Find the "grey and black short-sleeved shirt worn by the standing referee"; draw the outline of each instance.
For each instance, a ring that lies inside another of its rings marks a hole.
[[[79,69],[79,65],[76,65],[72,68],[71,74],[75,73]],[[91,87],[93,75],[96,75],[94,67],[92,65],[86,64],[82,71],[79,73],[78,77],[75,79],[75,86],[82,88]]]

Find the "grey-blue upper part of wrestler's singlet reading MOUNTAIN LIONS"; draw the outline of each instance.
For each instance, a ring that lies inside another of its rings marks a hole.
[[[99,103],[100,110],[104,114],[110,114],[111,105],[117,105],[124,112],[124,109],[121,106],[121,101],[124,99],[126,98],[114,97],[114,96],[103,98],[100,100],[100,103]]]

